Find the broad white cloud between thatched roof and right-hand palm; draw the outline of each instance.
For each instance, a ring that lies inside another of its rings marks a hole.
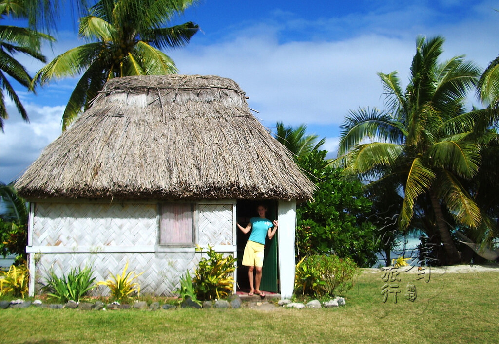
[[[380,104],[376,72],[407,65],[413,49],[412,42],[376,35],[284,44],[250,36],[172,56],[181,73],[236,80],[264,121],[339,124],[349,109]]]

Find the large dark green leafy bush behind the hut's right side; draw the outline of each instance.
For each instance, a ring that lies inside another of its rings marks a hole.
[[[376,263],[379,245],[376,227],[367,220],[371,201],[364,197],[362,184],[345,178],[324,160],[326,151],[299,157],[298,165],[308,172],[317,189],[314,202],[296,208],[296,256],[335,254],[351,258],[359,266]]]

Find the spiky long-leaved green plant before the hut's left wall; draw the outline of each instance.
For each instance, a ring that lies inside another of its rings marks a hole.
[[[48,291],[48,296],[59,300],[62,303],[69,300],[79,302],[95,285],[95,277],[92,277],[93,271],[89,266],[72,268],[67,276],[57,277],[54,271],[49,271],[49,277],[44,289]]]

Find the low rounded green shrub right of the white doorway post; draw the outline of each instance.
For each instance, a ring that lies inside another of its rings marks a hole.
[[[335,296],[352,288],[360,273],[350,258],[335,255],[313,255],[296,264],[295,292],[315,297]]]

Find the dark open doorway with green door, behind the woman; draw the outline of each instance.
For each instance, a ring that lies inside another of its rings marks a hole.
[[[259,204],[263,204],[267,208],[265,217],[270,221],[277,219],[277,202],[274,200],[257,201],[241,199],[237,202],[237,221],[243,227],[246,227],[250,222],[250,218],[258,216],[256,208]],[[277,264],[277,235],[278,230],[272,240],[265,240],[265,257],[263,259],[263,269],[260,289],[262,291],[277,293],[278,292],[278,264]],[[248,234],[243,233],[239,228],[237,229],[237,250],[238,250],[238,291],[249,291],[250,282],[248,281],[248,267],[243,266],[243,253],[246,243],[250,237],[251,232]]]

